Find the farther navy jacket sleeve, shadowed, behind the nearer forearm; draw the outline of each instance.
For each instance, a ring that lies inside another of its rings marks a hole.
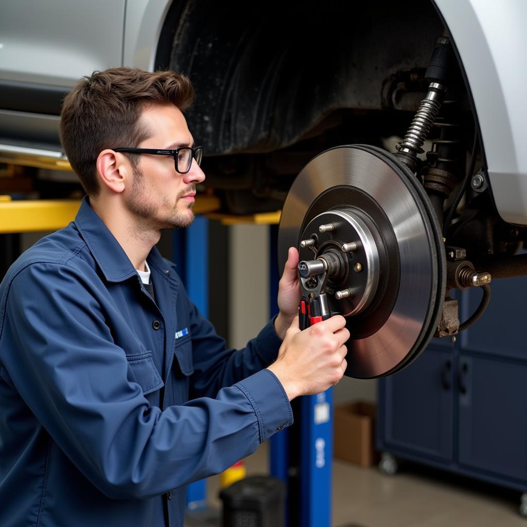
[[[190,300],[188,303],[194,367],[190,383],[192,398],[215,397],[224,386],[231,386],[276,360],[282,340],[276,334],[274,319],[245,348],[229,349],[210,321]]]

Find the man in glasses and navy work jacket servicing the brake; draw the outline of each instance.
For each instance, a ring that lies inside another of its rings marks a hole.
[[[185,485],[254,452],[292,423],[291,399],[344,374],[343,317],[299,330],[296,249],[279,315],[231,350],[155,248],[190,225],[205,177],[182,113],[193,97],[181,74],[120,67],[64,100],[87,196],[0,286],[3,527],[180,526]]]

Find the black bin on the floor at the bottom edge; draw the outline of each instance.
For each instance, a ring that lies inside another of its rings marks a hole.
[[[220,492],[223,527],[285,527],[285,484],[250,476]]]

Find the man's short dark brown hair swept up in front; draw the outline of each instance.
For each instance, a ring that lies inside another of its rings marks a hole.
[[[188,77],[173,71],[150,73],[128,67],[95,71],[66,95],[61,112],[61,142],[87,194],[96,197],[97,156],[106,148],[134,148],[149,136],[139,118],[149,103],[186,110],[194,100]],[[130,155],[134,167],[138,156]]]

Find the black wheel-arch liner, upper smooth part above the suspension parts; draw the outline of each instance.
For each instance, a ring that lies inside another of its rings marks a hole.
[[[174,26],[175,24],[175,26]],[[443,26],[431,2],[175,2],[158,66],[186,73],[209,155],[288,147],[339,109],[382,110],[383,86],[424,69]],[[170,46],[170,55],[168,47]],[[327,123],[326,123],[327,124]]]

